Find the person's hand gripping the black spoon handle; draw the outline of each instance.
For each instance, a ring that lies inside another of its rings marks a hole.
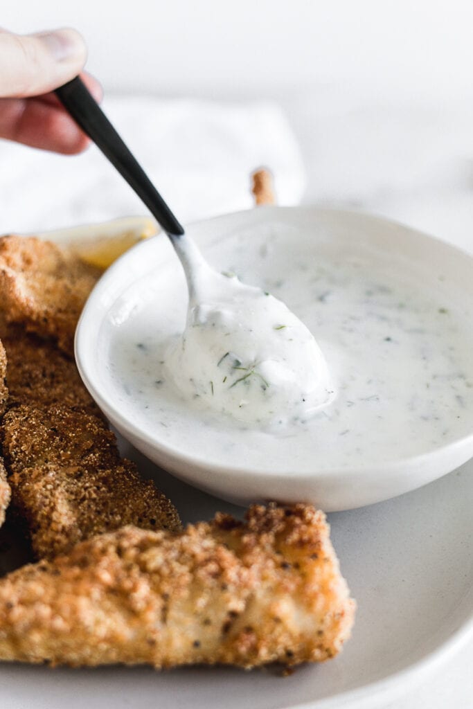
[[[0,30],[0,138],[69,155],[84,150],[89,139],[51,91],[77,76],[86,58],[75,30],[35,35]],[[82,79],[100,100],[98,82],[87,74]]]

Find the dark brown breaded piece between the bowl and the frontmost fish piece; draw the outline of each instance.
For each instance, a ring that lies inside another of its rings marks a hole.
[[[180,529],[172,503],[121,459],[104,420],[87,411],[16,406],[4,415],[1,442],[13,503],[40,559],[127,524]]]

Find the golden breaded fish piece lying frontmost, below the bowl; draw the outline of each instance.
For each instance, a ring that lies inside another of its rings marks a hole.
[[[124,527],[0,581],[0,659],[296,665],[334,657],[355,613],[322,512],[254,506],[180,535]]]

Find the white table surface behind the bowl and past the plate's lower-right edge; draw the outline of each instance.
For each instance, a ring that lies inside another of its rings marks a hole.
[[[306,163],[304,202],[394,218],[473,253],[473,101],[390,104],[332,88],[284,108]],[[473,637],[377,709],[472,708],[472,668]]]

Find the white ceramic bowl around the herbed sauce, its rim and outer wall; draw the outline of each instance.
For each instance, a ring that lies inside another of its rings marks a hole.
[[[280,240],[282,246],[274,245],[266,262],[280,263],[282,268],[291,253],[312,264],[326,248],[336,253],[335,264],[337,258],[362,259],[376,272],[379,264],[389,263],[398,273],[411,273],[425,302],[430,303],[437,291],[441,293],[441,302],[445,298],[452,316],[462,323],[465,349],[473,349],[473,258],[404,225],[360,213],[270,207],[200,222],[187,231],[211,262],[218,256],[218,245],[226,239],[235,235],[240,240],[245,238],[245,247],[235,250],[235,267],[247,266],[249,245],[254,247],[268,233],[278,235],[277,244]],[[265,268],[264,259],[257,263],[258,269]],[[260,277],[260,272],[253,275]],[[389,454],[385,454],[374,441],[377,457],[357,457],[353,453],[343,463],[333,462],[330,450],[321,455],[316,437],[309,431],[299,438],[251,432],[243,441],[236,429],[229,432],[213,424],[204,427],[201,413],[185,405],[177,415],[187,418],[187,436],[184,427],[157,424],[152,416],[144,415],[143,404],[130,396],[120,376],[113,374],[120,370],[120,353],[124,349],[116,334],[125,333],[121,337],[127,346],[128,341],[137,341],[131,337],[148,337],[155,327],[155,312],[161,308],[160,312],[166,314],[169,301],[182,306],[179,316],[184,323],[186,293],[182,268],[168,240],[161,236],[143,242],[118,259],[101,278],[84,308],[76,337],[79,372],[108,419],[141,452],[184,481],[236,503],[271,497],[286,502],[307,501],[333,511],[416,489],[472,457],[471,407],[464,409],[460,428],[453,427],[456,432],[445,442],[429,443],[424,428],[419,428],[418,439],[423,441],[423,447],[415,453],[397,457],[403,454],[402,447],[391,446]],[[145,303],[152,303],[152,308],[143,308]],[[292,303],[288,301],[288,305],[291,307]],[[129,323],[138,323],[138,335],[129,334]],[[117,342],[121,344],[116,345]],[[367,376],[369,354],[364,353],[367,359],[363,371]],[[158,401],[156,389],[153,396],[150,408]],[[421,427],[425,426],[420,418],[418,421]],[[389,420],[377,425],[378,435],[390,430]],[[414,431],[415,426],[413,423]],[[377,430],[376,426],[373,430]],[[396,440],[396,433],[390,435]],[[416,436],[413,438],[417,440]],[[304,455],[299,458],[298,447],[304,447]],[[335,447],[336,444],[332,450]],[[219,458],[217,452],[224,448],[230,454]]]

